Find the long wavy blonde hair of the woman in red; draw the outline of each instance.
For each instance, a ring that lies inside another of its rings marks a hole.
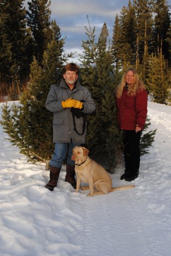
[[[116,98],[121,98],[121,96],[122,96],[122,92],[124,90],[124,87],[126,86],[126,75],[129,71],[132,71],[132,73],[134,74],[134,81],[129,86],[129,88],[127,90],[127,95],[134,96],[136,94],[136,91],[145,89],[145,86],[144,86],[143,82],[141,81],[141,79],[139,78],[139,75],[136,72],[136,70],[134,68],[128,68],[127,70],[125,70],[125,72],[121,78],[121,82],[116,86],[116,91],[115,91]]]

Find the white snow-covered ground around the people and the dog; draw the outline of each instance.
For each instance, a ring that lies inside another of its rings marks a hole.
[[[170,256],[171,107],[149,102],[148,116],[157,133],[139,178],[120,180],[122,165],[111,175],[114,187],[136,187],[94,197],[74,192],[64,166],[46,189],[45,165],[28,163],[0,126],[0,255]]]

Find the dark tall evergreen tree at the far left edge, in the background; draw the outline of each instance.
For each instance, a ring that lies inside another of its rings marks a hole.
[[[23,0],[0,1],[0,27],[1,82],[8,87],[12,83],[13,86],[15,83],[20,86],[27,73],[27,29]]]

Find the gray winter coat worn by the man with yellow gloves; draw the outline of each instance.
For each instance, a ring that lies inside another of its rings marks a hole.
[[[83,135],[79,135],[74,131],[71,108],[62,107],[62,101],[69,98],[84,101],[84,109],[82,112],[85,114],[92,114],[96,109],[95,103],[91,98],[91,93],[86,87],[83,87],[78,80],[72,91],[69,86],[66,85],[64,79],[62,79],[60,84],[52,85],[47,95],[46,108],[54,114],[53,142],[70,142],[72,139],[73,143],[85,143],[87,122],[85,132]],[[81,134],[83,117],[75,117],[75,126],[76,130]]]

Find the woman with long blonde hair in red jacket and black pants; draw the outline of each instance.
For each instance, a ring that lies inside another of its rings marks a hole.
[[[138,178],[140,136],[147,117],[147,92],[134,68],[129,68],[116,87],[117,122],[123,130],[125,173],[121,180]]]

